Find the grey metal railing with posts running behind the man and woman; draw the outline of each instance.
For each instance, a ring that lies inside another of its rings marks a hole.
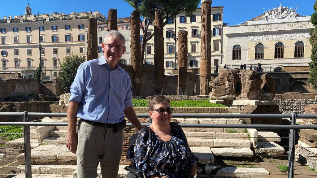
[[[0,122],[0,125],[22,125],[24,134],[24,163],[25,176],[32,178],[31,164],[31,141],[30,141],[30,126],[67,126],[67,123],[43,123],[30,122],[31,117],[66,117],[67,113],[37,113],[37,112],[0,112],[0,117],[22,117],[23,122]],[[138,118],[149,118],[148,113],[138,113]],[[259,118],[259,119],[290,119],[290,125],[269,125],[269,124],[179,124],[181,127],[199,127],[199,128],[234,128],[234,129],[289,129],[288,146],[288,178],[294,178],[295,166],[295,130],[298,129],[317,129],[317,125],[296,125],[297,118],[317,119],[317,114],[205,114],[205,113],[173,113],[172,118]],[[143,123],[142,126],[151,124]],[[127,127],[133,125],[127,123]],[[230,146],[229,146],[230,147]],[[265,155],[254,155],[265,156]],[[21,158],[20,158],[21,159]],[[23,159],[23,158],[22,158]],[[297,165],[296,165],[297,166]],[[284,174],[276,174],[284,175]]]

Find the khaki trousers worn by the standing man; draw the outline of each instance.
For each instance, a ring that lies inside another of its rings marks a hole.
[[[117,178],[122,153],[123,130],[78,123],[77,177],[94,178],[100,162],[102,178]]]

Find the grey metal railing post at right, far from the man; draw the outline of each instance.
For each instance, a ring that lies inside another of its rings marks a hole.
[[[292,124],[296,125],[296,113],[291,112]],[[294,178],[294,162],[295,162],[295,130],[289,130],[288,142],[288,178]]]

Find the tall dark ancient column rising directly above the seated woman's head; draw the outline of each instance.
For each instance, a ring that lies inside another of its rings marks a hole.
[[[164,86],[164,29],[163,11],[155,9],[154,18],[155,93],[163,94]]]

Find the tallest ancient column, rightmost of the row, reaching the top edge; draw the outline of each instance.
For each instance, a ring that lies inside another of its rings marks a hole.
[[[211,76],[211,0],[202,0],[201,4],[201,45],[200,45],[200,94],[208,95]]]

